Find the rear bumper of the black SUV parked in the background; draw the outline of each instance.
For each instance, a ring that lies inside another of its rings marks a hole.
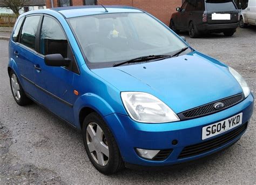
[[[198,25],[199,31],[224,31],[228,29],[237,29],[238,23],[228,24],[200,24]]]

